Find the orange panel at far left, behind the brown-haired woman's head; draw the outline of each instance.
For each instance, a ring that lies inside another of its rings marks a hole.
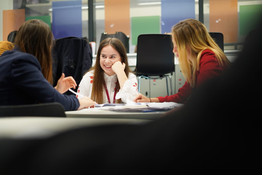
[[[3,10],[3,41],[11,31],[18,30],[25,22],[25,9]]]

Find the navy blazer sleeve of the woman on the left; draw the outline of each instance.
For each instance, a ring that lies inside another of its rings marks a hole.
[[[20,56],[14,59],[11,65],[13,86],[27,94],[28,98],[40,103],[58,102],[66,111],[79,108],[79,101],[74,95],[63,95],[51,86],[43,76],[40,64],[33,55],[21,52],[19,54]]]

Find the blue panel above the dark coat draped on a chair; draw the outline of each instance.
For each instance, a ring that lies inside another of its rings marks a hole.
[[[82,1],[52,2],[52,32],[54,38],[82,37]]]

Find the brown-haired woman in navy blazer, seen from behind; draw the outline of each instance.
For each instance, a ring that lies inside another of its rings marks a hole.
[[[59,79],[52,87],[53,34],[41,20],[32,19],[21,25],[15,48],[0,57],[0,105],[61,103],[65,110],[94,107],[89,97],[77,99],[62,93],[75,88],[73,77]]]

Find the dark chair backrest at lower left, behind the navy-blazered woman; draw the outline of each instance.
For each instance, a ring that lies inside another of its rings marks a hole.
[[[66,117],[60,103],[0,106],[0,117],[10,116]]]

